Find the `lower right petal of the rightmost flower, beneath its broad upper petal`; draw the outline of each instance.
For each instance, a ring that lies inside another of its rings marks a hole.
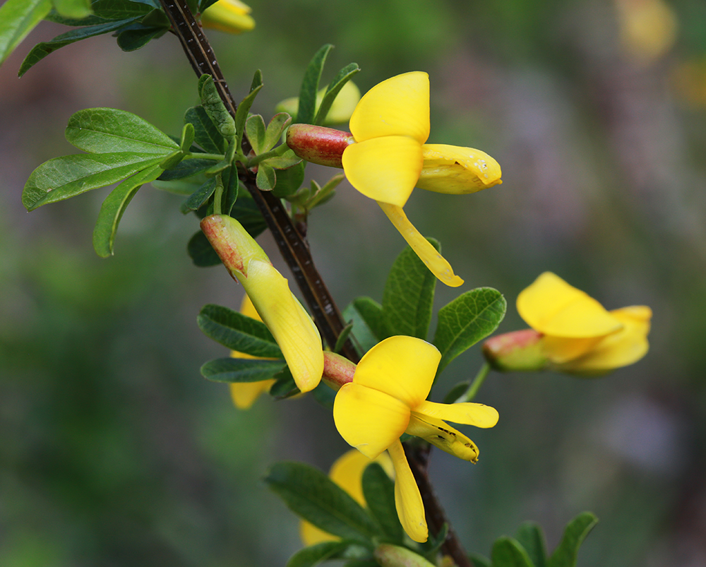
[[[623,323],[623,330],[608,335],[583,357],[561,365],[562,371],[601,373],[638,362],[647,354],[652,310],[631,306],[611,311],[611,315]]]

